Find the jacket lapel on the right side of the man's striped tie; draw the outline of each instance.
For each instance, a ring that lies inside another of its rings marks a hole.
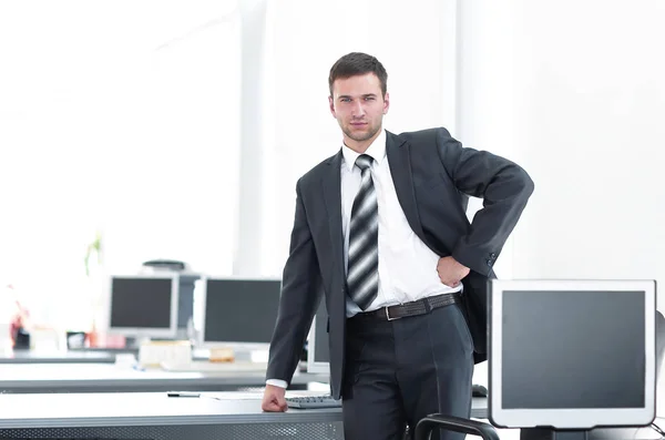
[[[418,208],[416,206],[416,192],[413,191],[413,174],[411,172],[411,145],[399,136],[386,131],[386,154],[390,165],[390,174],[395,183],[395,192],[399,204],[405,212],[407,222],[411,229],[424,243],[424,233],[420,224]]]

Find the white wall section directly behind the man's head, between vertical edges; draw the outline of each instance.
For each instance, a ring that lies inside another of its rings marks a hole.
[[[328,73],[351,51],[388,71],[393,132],[456,124],[454,0],[280,0],[269,3],[260,270],[282,274],[297,178],[341,146]]]

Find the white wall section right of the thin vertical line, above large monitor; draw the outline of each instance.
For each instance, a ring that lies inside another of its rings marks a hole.
[[[663,22],[657,0],[460,2],[456,134],[535,181],[500,277],[656,278],[663,297]]]

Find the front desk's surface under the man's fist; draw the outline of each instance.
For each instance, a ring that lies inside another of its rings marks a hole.
[[[0,429],[341,421],[340,408],[263,412],[260,398],[258,392],[204,392],[200,398],[165,392],[0,395]],[[485,399],[473,399],[472,417],[487,417]]]

